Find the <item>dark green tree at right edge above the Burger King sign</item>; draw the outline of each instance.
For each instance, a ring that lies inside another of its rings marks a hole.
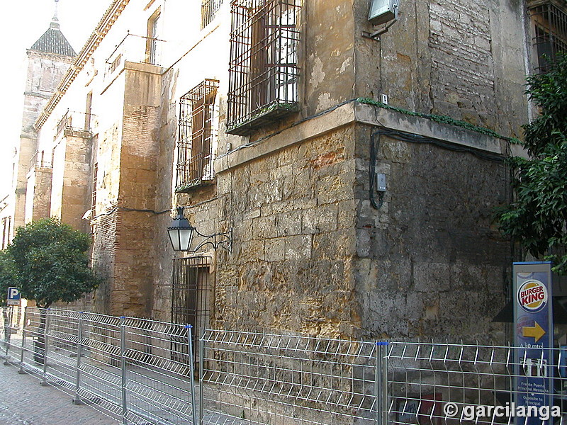
[[[567,274],[567,56],[527,79],[539,117],[523,126],[529,159],[513,157],[510,205],[497,212],[500,231]]]

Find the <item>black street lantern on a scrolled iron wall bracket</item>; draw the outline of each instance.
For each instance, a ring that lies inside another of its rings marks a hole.
[[[195,252],[208,244],[212,245],[215,250],[222,246],[230,251],[232,247],[232,230],[230,233],[202,234],[185,218],[183,209],[183,207],[177,207],[177,215],[174,217],[172,225],[167,227],[169,242],[172,242],[174,251]],[[198,236],[204,239],[194,249],[191,249],[194,234],[198,234]]]

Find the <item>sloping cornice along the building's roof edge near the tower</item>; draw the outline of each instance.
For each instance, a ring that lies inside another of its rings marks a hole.
[[[96,50],[96,47],[99,47],[99,44],[108,33],[108,30],[111,29],[113,24],[116,22],[116,19],[118,19],[118,16],[120,16],[120,13],[122,13],[129,2],[130,0],[114,0],[111,6],[106,9],[101,21],[99,21],[96,28],[94,28],[93,33],[89,37],[89,40],[86,41],[82,50],[79,52],[77,57],[75,57],[72,65],[69,69],[67,69],[67,72],[61,79],[60,84],[57,86],[57,89],[55,89],[55,93],[51,96],[49,102],[47,102],[47,105],[43,108],[43,111],[41,111],[38,119],[35,120],[33,127],[36,130],[39,130],[41,126],[45,124],[45,121],[49,118],[53,109],[57,106],[57,103],[59,103],[67,89],[69,89],[69,86],[72,84],[74,79],[77,78],[77,75],[83,69],[84,64],[86,64],[86,61],[89,60],[93,52]]]

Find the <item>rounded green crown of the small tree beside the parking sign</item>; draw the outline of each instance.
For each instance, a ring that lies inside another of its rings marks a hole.
[[[7,249],[12,259],[8,263],[11,281],[20,288],[23,298],[35,300],[41,308],[57,301],[78,300],[99,283],[89,268],[89,246],[88,234],[55,218],[18,227]]]

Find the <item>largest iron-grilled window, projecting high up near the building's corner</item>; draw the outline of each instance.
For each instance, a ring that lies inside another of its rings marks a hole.
[[[232,0],[227,132],[298,111],[301,0]]]

